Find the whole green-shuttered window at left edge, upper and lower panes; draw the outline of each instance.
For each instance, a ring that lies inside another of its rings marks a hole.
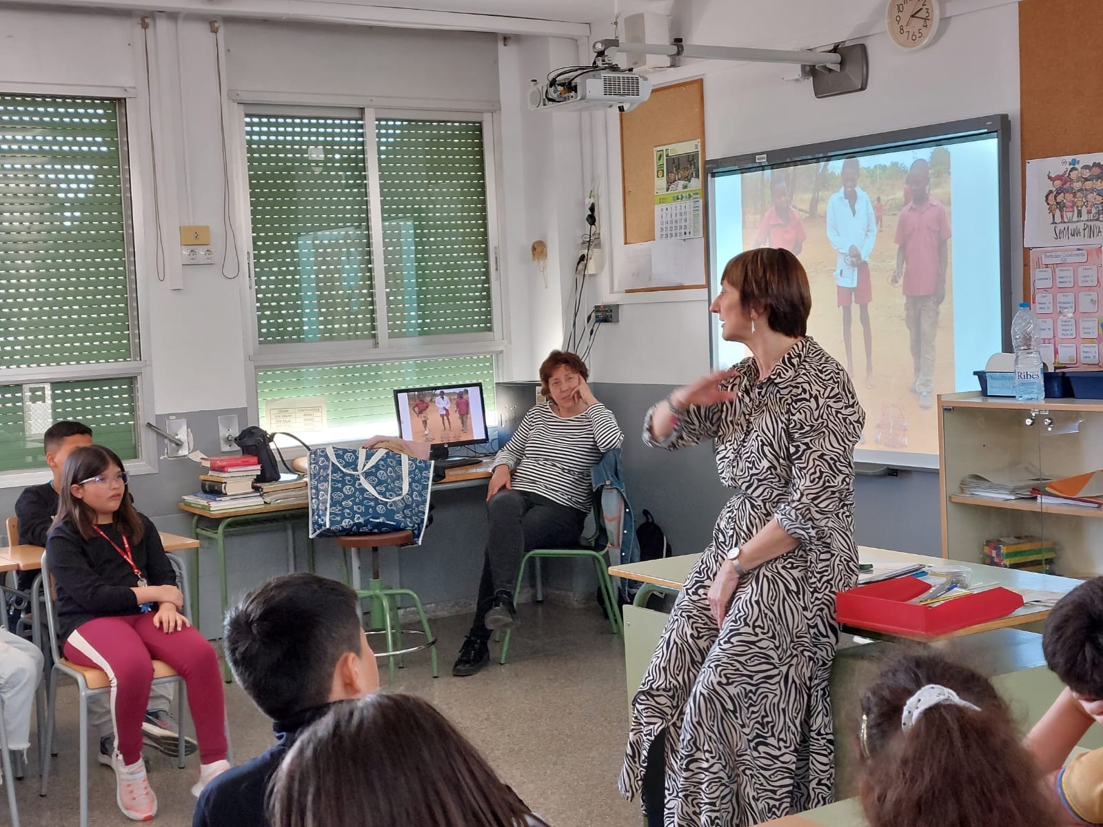
[[[0,472],[58,419],[139,455],[137,320],[122,103],[0,95]]]

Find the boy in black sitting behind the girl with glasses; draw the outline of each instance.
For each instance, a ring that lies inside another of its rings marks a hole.
[[[57,486],[61,485],[62,470],[66,458],[78,448],[92,444],[92,428],[84,422],[54,422],[43,434],[42,444],[46,452],[46,464],[53,472],[53,480],[42,485],[31,485],[15,501],[15,516],[19,518],[19,541],[29,546],[45,546],[46,535],[53,527],[57,514]],[[36,571],[20,571],[18,583],[21,591],[30,591]],[[15,617],[9,614],[9,625]],[[149,709],[142,723],[142,735],[147,744],[165,755],[176,756],[176,722],[169,715],[172,689],[158,684],[150,689]],[[115,749],[115,731],[111,723],[109,700],[105,695],[88,698],[88,723],[99,733],[99,763],[111,765]],[[184,739],[184,754],[195,752],[195,742]]]

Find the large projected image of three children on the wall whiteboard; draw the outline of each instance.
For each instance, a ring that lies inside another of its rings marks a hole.
[[[709,161],[710,294],[729,259],[792,251],[807,332],[866,411],[855,458],[938,465],[938,394],[976,389],[1009,319],[1006,116]],[[745,358],[710,320],[711,362]]]

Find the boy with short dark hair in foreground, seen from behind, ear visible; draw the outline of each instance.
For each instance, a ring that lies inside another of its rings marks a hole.
[[[317,574],[286,574],[246,594],[226,615],[226,660],[260,711],[276,745],[232,767],[200,795],[192,827],[267,827],[268,782],[298,733],[330,705],[379,686],[360,625],[356,593]]]

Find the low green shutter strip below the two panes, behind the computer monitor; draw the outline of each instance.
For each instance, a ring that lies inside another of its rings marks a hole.
[[[269,406],[279,407],[279,400],[302,397],[324,399],[326,428],[394,425],[395,388],[460,385],[473,382],[481,382],[483,385],[483,397],[489,415],[494,410],[493,356],[454,356],[377,362],[366,365],[261,369],[257,370],[260,425],[263,428],[271,428],[267,415]]]

